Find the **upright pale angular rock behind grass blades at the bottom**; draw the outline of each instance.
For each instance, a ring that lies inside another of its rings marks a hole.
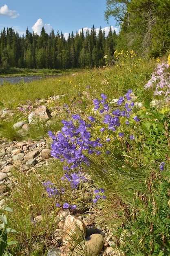
[[[73,250],[86,236],[86,225],[74,216],[68,215],[64,222],[63,244]]]

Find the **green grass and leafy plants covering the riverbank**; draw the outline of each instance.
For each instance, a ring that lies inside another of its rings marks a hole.
[[[153,253],[168,256],[170,250],[170,109],[164,105],[159,109],[150,106],[154,97],[152,92],[148,93],[144,89],[155,67],[157,61],[154,59],[121,57],[115,66],[74,71],[57,78],[48,77],[31,83],[21,82],[18,85],[7,84],[0,87],[0,102],[3,103],[0,108],[13,110],[12,121],[9,121],[8,115],[0,121],[0,136],[9,140],[45,137],[51,144],[48,130],[54,134],[61,130],[63,119],[71,120],[72,114],[79,114],[87,121],[88,116],[95,115],[97,121],[89,130],[92,140],[100,137],[104,146],[99,148],[102,151],[100,155],[88,155],[84,152],[90,166],[82,164],[82,172],[84,175],[91,175],[93,182],[81,184],[76,190],[71,189],[67,180],[61,180],[66,161],[60,162],[58,159],[49,161],[48,166],[36,171],[45,182],[49,180],[57,189],[64,188],[66,192],[57,198],[60,204],[77,204],[84,211],[92,209],[94,189],[104,188],[107,198],[98,201],[95,220],[116,234],[114,237],[117,245],[127,255]],[[137,115],[140,122],[135,122],[130,117],[130,124],[127,126],[125,118],[121,118],[118,130],[124,132],[124,137],[119,137],[118,131],[106,129],[101,132],[100,128],[107,125],[102,123],[103,115],[94,114],[93,100],[101,99],[100,95],[104,93],[108,97],[110,107],[121,108],[122,111],[124,106],[117,106],[113,99],[119,99],[129,89],[135,94],[133,97],[136,102],[144,103],[143,108],[133,109],[132,117]],[[51,100],[50,97],[54,95],[62,96]],[[47,124],[37,120],[31,124],[28,134],[18,138],[18,133],[13,130],[12,125],[17,121],[26,121],[27,115],[32,111],[21,111],[19,107],[27,104],[35,109],[35,101],[38,99],[44,99],[42,105],[46,102],[51,111],[56,108],[56,117]],[[64,104],[68,105],[71,113],[68,113]],[[74,121],[74,124],[78,126],[77,121]],[[135,139],[130,140],[130,135],[134,135]],[[108,137],[111,141],[106,143]],[[110,154],[106,154],[107,150],[110,150]],[[161,162],[165,162],[163,172],[159,169]],[[14,202],[14,214],[8,214],[8,218],[10,227],[18,231],[18,234],[13,236],[19,243],[17,247],[12,248],[12,252],[46,255],[45,251],[52,244],[53,231],[57,226],[55,216],[59,209],[55,207],[55,203],[58,201],[48,198],[42,183],[35,175],[27,176],[18,171],[14,171],[13,175],[18,181],[18,186],[13,188],[11,196],[7,199],[7,203],[11,200]],[[35,225],[31,220],[39,215],[42,220]],[[159,223],[156,219],[159,219]],[[153,231],[148,230],[150,225],[154,227]],[[35,244],[40,245],[40,249],[32,246]]]

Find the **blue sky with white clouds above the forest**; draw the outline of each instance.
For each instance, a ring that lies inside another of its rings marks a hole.
[[[118,32],[114,18],[107,23],[104,20],[105,0],[1,0],[0,31],[12,27],[19,35],[25,35],[26,28],[40,34],[42,26],[47,33],[57,30],[67,38],[68,34],[95,26],[100,26],[107,35],[110,26]]]

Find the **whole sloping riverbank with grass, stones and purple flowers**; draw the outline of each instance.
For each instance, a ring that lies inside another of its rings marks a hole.
[[[100,256],[169,255],[170,109],[150,80],[169,67],[119,56],[114,67],[0,87],[13,254],[87,255],[90,228]]]

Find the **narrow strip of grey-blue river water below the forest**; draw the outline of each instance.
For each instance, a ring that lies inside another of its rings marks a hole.
[[[0,77],[0,85],[7,83],[19,83],[20,81],[31,82],[33,80],[40,80],[44,76],[8,76]]]

